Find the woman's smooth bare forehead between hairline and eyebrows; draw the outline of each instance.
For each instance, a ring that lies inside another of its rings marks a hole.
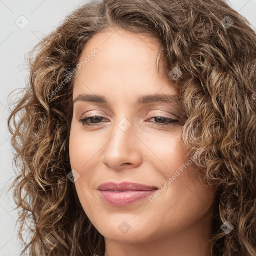
[[[93,53],[95,49],[96,54]],[[87,61],[75,75],[74,94],[84,91],[96,94],[122,91],[124,96],[145,91],[156,93],[169,82],[162,59],[159,69],[156,66],[160,49],[156,38],[123,29],[110,29],[94,35],[80,56],[80,63]],[[166,87],[170,91],[169,86],[165,86],[162,93],[166,92]]]

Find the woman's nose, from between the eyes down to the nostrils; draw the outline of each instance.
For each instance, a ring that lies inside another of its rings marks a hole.
[[[103,163],[116,170],[138,167],[142,162],[142,151],[141,141],[135,133],[134,125],[126,118],[115,124],[103,147]]]

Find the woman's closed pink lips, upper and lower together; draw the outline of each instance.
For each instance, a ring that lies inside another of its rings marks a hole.
[[[98,188],[101,198],[113,206],[126,206],[135,201],[150,196],[158,188],[138,183],[122,182],[116,184],[107,182]]]

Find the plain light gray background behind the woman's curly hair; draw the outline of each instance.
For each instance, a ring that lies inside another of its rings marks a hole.
[[[6,125],[9,115],[7,95],[14,89],[23,88],[28,81],[24,62],[27,52],[44,35],[56,29],[68,13],[88,1],[0,0],[0,192],[3,190],[0,197],[0,256],[19,255],[21,250],[15,228],[17,211],[13,209],[16,205],[11,192],[6,193],[10,184],[7,180],[15,175]],[[255,29],[256,0],[229,0],[229,4]],[[25,22],[29,23],[23,28]]]

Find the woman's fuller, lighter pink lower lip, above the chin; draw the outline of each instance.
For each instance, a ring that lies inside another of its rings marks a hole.
[[[132,204],[136,201],[144,199],[151,194],[155,193],[156,190],[146,190],[146,191],[121,191],[113,192],[110,190],[100,191],[101,198],[108,204],[113,206],[126,206]]]

